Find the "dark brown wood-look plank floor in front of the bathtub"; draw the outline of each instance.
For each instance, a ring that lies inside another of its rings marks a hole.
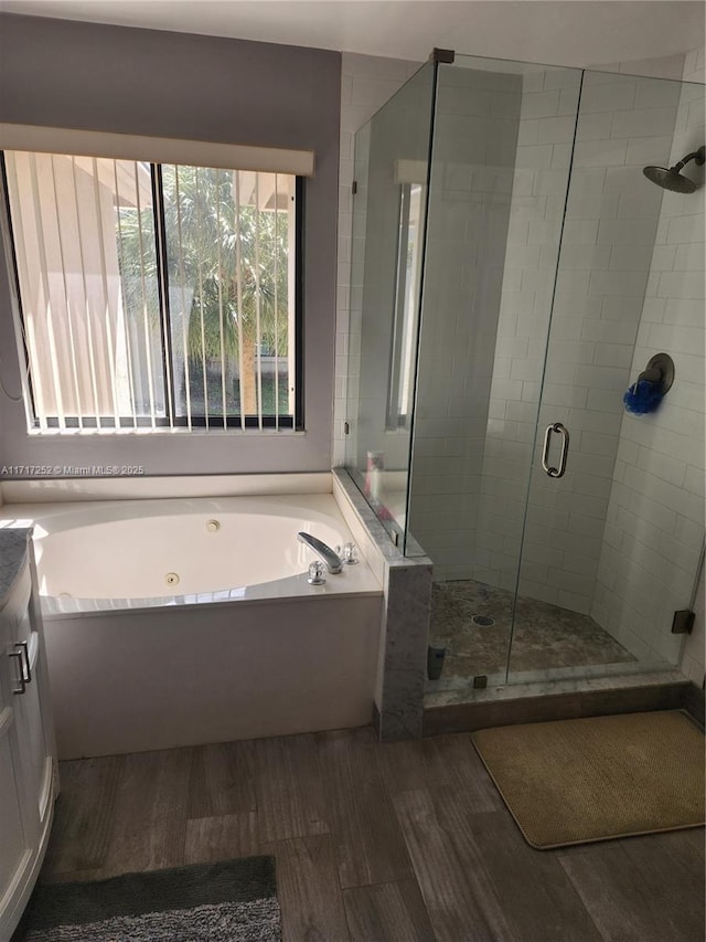
[[[532,849],[468,734],[62,763],[41,879],[271,854],[290,942],[703,942],[703,828]]]

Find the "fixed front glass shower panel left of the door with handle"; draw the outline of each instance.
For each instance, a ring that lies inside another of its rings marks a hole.
[[[438,70],[408,527],[450,688],[506,677],[580,80]]]

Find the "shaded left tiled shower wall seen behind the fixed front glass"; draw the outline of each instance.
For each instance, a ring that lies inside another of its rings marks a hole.
[[[439,66],[408,520],[436,580],[475,552],[521,93]]]

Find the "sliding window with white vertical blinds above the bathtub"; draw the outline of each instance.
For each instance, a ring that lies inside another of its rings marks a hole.
[[[6,150],[31,430],[301,425],[301,178]]]

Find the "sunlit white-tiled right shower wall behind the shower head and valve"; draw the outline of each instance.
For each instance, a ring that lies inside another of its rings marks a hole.
[[[687,81],[703,80],[703,50],[686,66]],[[682,87],[666,166],[703,146],[705,104],[703,85]],[[703,168],[689,165],[687,173],[704,180]],[[656,413],[622,416],[591,612],[646,659],[678,657],[672,617],[692,602],[704,539],[704,192],[662,200],[631,377],[665,351],[676,379]],[[684,665],[700,682],[703,644],[689,646]]]

